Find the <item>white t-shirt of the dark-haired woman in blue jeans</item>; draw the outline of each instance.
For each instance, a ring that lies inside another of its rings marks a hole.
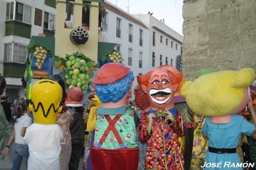
[[[31,118],[29,115],[24,113],[23,116],[17,119],[17,122],[14,125],[15,128],[15,142],[20,144],[27,144],[23,139],[23,136],[20,135],[21,129],[23,127],[28,128],[32,124]]]

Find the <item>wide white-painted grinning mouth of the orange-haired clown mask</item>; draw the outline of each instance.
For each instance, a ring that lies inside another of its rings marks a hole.
[[[150,89],[150,99],[157,104],[164,104],[172,97],[172,90],[170,88],[164,89]]]

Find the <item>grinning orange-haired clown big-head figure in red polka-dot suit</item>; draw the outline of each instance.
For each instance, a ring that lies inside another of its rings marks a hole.
[[[139,125],[139,140],[148,144],[147,169],[180,169],[184,165],[178,136],[184,134],[186,126],[183,126],[181,115],[174,107],[174,94],[184,77],[170,70],[170,66],[164,65],[137,76],[139,86],[135,90],[135,101],[144,109]],[[173,121],[167,121],[164,114],[159,114],[166,110],[174,116]],[[147,116],[150,113],[156,114],[156,117],[148,134]]]

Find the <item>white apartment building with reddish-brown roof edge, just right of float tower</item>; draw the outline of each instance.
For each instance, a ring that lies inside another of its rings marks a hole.
[[[123,63],[133,72],[133,91],[138,84],[137,75],[145,74],[151,69],[148,28],[142,20],[108,1],[102,2],[101,5],[106,8],[102,19],[103,33],[109,43],[116,43],[115,49],[120,51],[125,59]],[[134,95],[131,99],[134,99]]]

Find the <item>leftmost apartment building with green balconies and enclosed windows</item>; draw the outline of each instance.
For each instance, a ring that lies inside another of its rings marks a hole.
[[[6,80],[4,95],[14,100],[25,97],[21,78],[29,56],[31,36],[44,33],[54,37],[55,0],[0,1],[0,73]]]

